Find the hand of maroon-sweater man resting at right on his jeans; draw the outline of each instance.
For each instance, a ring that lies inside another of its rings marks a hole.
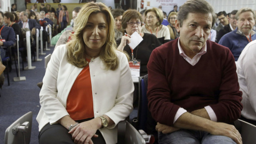
[[[217,123],[214,122],[213,125],[215,128],[212,129],[209,133],[212,135],[223,135],[233,139],[237,144],[242,144],[241,134],[236,130],[234,125],[229,125],[226,123]]]

